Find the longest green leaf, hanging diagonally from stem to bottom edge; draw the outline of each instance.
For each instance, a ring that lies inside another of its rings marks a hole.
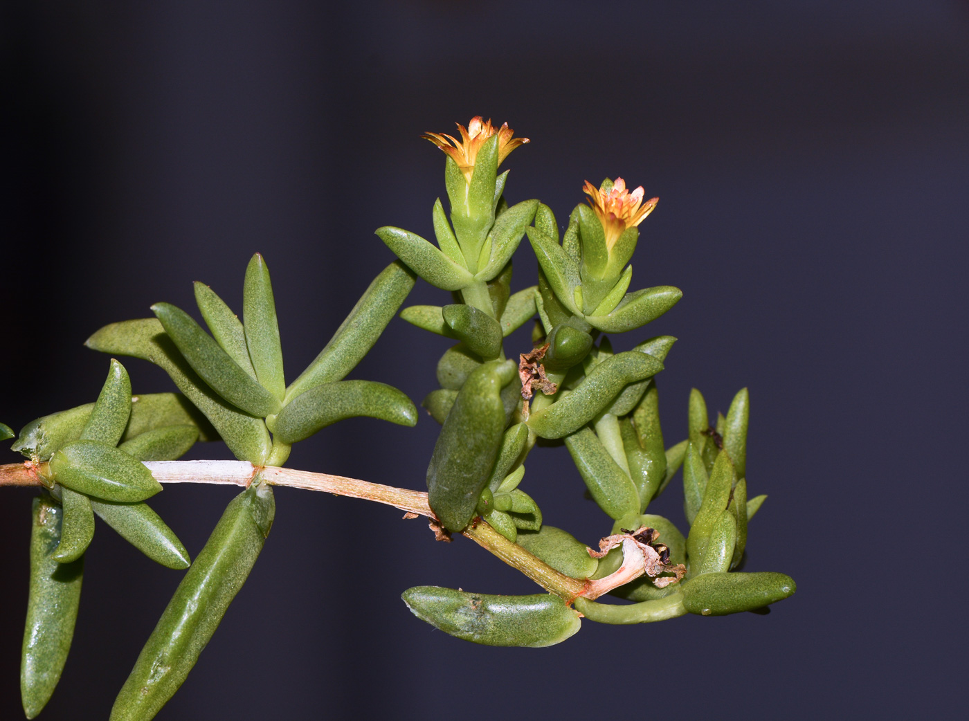
[[[230,501],[141,649],[111,721],[153,718],[172,698],[248,578],[274,516],[268,484],[254,484]]]

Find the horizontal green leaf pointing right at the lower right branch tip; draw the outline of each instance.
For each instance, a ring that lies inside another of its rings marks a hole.
[[[683,583],[683,605],[691,613],[726,615],[763,609],[796,590],[785,574],[703,574]]]

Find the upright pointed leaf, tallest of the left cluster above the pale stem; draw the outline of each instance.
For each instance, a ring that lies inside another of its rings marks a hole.
[[[242,328],[256,378],[279,400],[286,394],[283,348],[279,341],[276,301],[272,297],[269,268],[256,253],[245,269],[242,286]]]

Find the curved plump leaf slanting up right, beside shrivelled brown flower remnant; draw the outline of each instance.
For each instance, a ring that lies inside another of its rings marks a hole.
[[[618,353],[599,363],[575,392],[528,419],[528,426],[543,438],[562,438],[588,423],[628,383],[641,381],[663,370],[663,363],[637,351]]]

